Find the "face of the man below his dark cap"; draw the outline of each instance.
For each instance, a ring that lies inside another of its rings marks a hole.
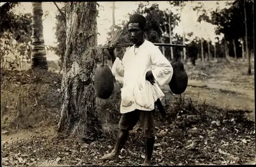
[[[137,44],[143,40],[144,31],[140,29],[139,23],[128,24],[128,32],[133,44]]]

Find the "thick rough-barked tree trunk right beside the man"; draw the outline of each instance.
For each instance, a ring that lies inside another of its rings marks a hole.
[[[67,3],[67,39],[61,83],[61,114],[58,132],[79,140],[95,140],[101,133],[96,110],[93,75],[97,45],[96,2]]]

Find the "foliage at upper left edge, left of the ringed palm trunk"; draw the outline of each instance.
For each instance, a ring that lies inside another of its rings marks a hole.
[[[1,56],[13,54],[15,58],[30,59],[32,36],[31,13],[14,14],[19,3],[6,3],[0,10]]]

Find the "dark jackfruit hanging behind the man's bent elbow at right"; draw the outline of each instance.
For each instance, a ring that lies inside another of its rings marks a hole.
[[[170,63],[173,66],[173,77],[169,82],[170,90],[174,94],[182,94],[187,88],[188,77],[181,61]]]

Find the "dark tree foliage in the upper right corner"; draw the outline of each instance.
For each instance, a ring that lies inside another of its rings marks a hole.
[[[253,48],[253,2],[246,0],[246,18],[248,32],[248,47]],[[232,48],[232,40],[236,41],[236,45],[240,46],[239,39],[245,37],[245,20],[244,20],[244,0],[236,0],[231,4],[230,8],[222,10],[216,9],[211,12],[211,19],[205,14],[199,16],[199,20],[204,20],[217,25],[216,34],[224,34],[224,40],[228,41],[228,46]],[[233,55],[233,49],[230,49]],[[237,52],[241,53],[241,47],[237,47]],[[239,55],[239,54],[238,54]]]

